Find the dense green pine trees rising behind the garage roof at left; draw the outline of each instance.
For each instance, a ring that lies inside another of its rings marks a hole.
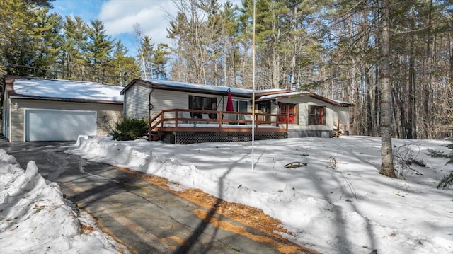
[[[0,1],[0,74],[122,85],[139,76],[101,21],[62,17],[47,0]]]

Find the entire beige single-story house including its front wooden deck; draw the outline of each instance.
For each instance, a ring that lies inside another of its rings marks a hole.
[[[121,94],[125,96],[125,118],[150,119],[151,139],[160,138],[164,132],[171,132],[173,136],[186,134],[182,138],[185,141],[176,141],[178,144],[193,142],[188,139],[195,133],[205,135],[194,139],[195,142],[243,140],[240,132],[251,132],[251,127],[247,127],[251,126],[251,117],[256,117],[255,137],[258,132],[262,139],[333,137],[334,129],[336,133],[342,129],[343,134],[348,134],[349,107],[352,106],[315,93],[288,89],[252,91],[154,79],[134,79]],[[226,108],[228,94],[234,113]],[[152,132],[158,134],[153,136]],[[229,133],[228,139],[213,139],[219,136],[217,132],[223,132],[223,136]]]

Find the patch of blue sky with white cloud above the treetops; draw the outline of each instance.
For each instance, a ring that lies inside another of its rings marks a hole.
[[[241,0],[230,1],[241,4]],[[224,2],[219,1],[221,4]],[[171,0],[55,0],[52,4],[53,11],[62,16],[80,16],[87,23],[95,19],[103,21],[107,34],[120,39],[132,56],[137,47],[133,29],[136,23],[155,45],[171,45],[171,40],[166,37],[169,21],[176,15]]]

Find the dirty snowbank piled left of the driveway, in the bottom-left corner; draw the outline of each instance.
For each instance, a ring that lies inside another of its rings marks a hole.
[[[0,149],[0,253],[129,253],[95,220],[42,178],[34,161],[26,171]]]

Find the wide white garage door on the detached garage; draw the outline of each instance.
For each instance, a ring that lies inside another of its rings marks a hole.
[[[69,141],[96,135],[96,111],[25,110],[25,141]]]

